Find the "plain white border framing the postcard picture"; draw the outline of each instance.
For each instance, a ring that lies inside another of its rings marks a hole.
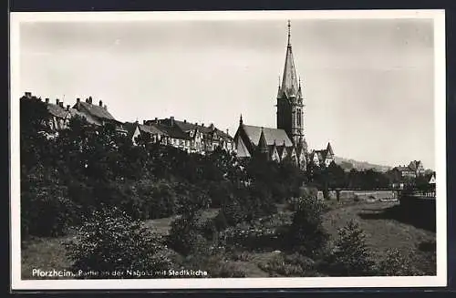
[[[437,180],[437,275],[414,277],[306,277],[155,280],[22,280],[20,241],[19,161],[19,25],[23,22],[131,22],[245,19],[392,19],[430,18],[434,21],[435,146]],[[223,12],[88,12],[10,14],[10,152],[11,152],[11,281],[12,290],[66,289],[214,289],[214,288],[352,288],[432,287],[447,285],[446,207],[446,75],[444,10],[344,10],[344,11],[223,11]]]

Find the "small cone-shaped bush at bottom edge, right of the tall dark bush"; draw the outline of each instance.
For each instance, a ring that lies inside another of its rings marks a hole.
[[[355,221],[338,231],[335,251],[330,256],[330,274],[366,276],[374,273],[374,262],[366,244],[366,235]]]

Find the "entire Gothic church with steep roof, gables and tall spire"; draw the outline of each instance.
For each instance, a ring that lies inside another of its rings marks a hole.
[[[317,166],[328,166],[334,160],[334,151],[330,143],[327,143],[326,149],[310,152],[307,149],[304,102],[301,80],[296,77],[291,26],[288,21],[285,68],[277,92],[277,127],[248,125],[244,123],[241,115],[239,128],[233,138],[237,156],[251,158],[254,155],[262,155],[277,162],[289,159],[303,170],[306,170],[309,162]]]

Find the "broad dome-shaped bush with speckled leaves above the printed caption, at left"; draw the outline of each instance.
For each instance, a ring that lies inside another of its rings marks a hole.
[[[168,270],[173,258],[161,236],[118,209],[96,211],[65,247],[74,272],[101,272],[99,278],[119,278],[102,273],[114,271],[124,272],[120,278],[138,278],[128,271],[147,272],[143,277],[150,278]]]

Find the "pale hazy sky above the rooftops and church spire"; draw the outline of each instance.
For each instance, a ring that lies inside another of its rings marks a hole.
[[[103,100],[120,121],[276,127],[284,20],[23,23],[20,88]],[[309,149],[435,169],[431,19],[292,19]]]

